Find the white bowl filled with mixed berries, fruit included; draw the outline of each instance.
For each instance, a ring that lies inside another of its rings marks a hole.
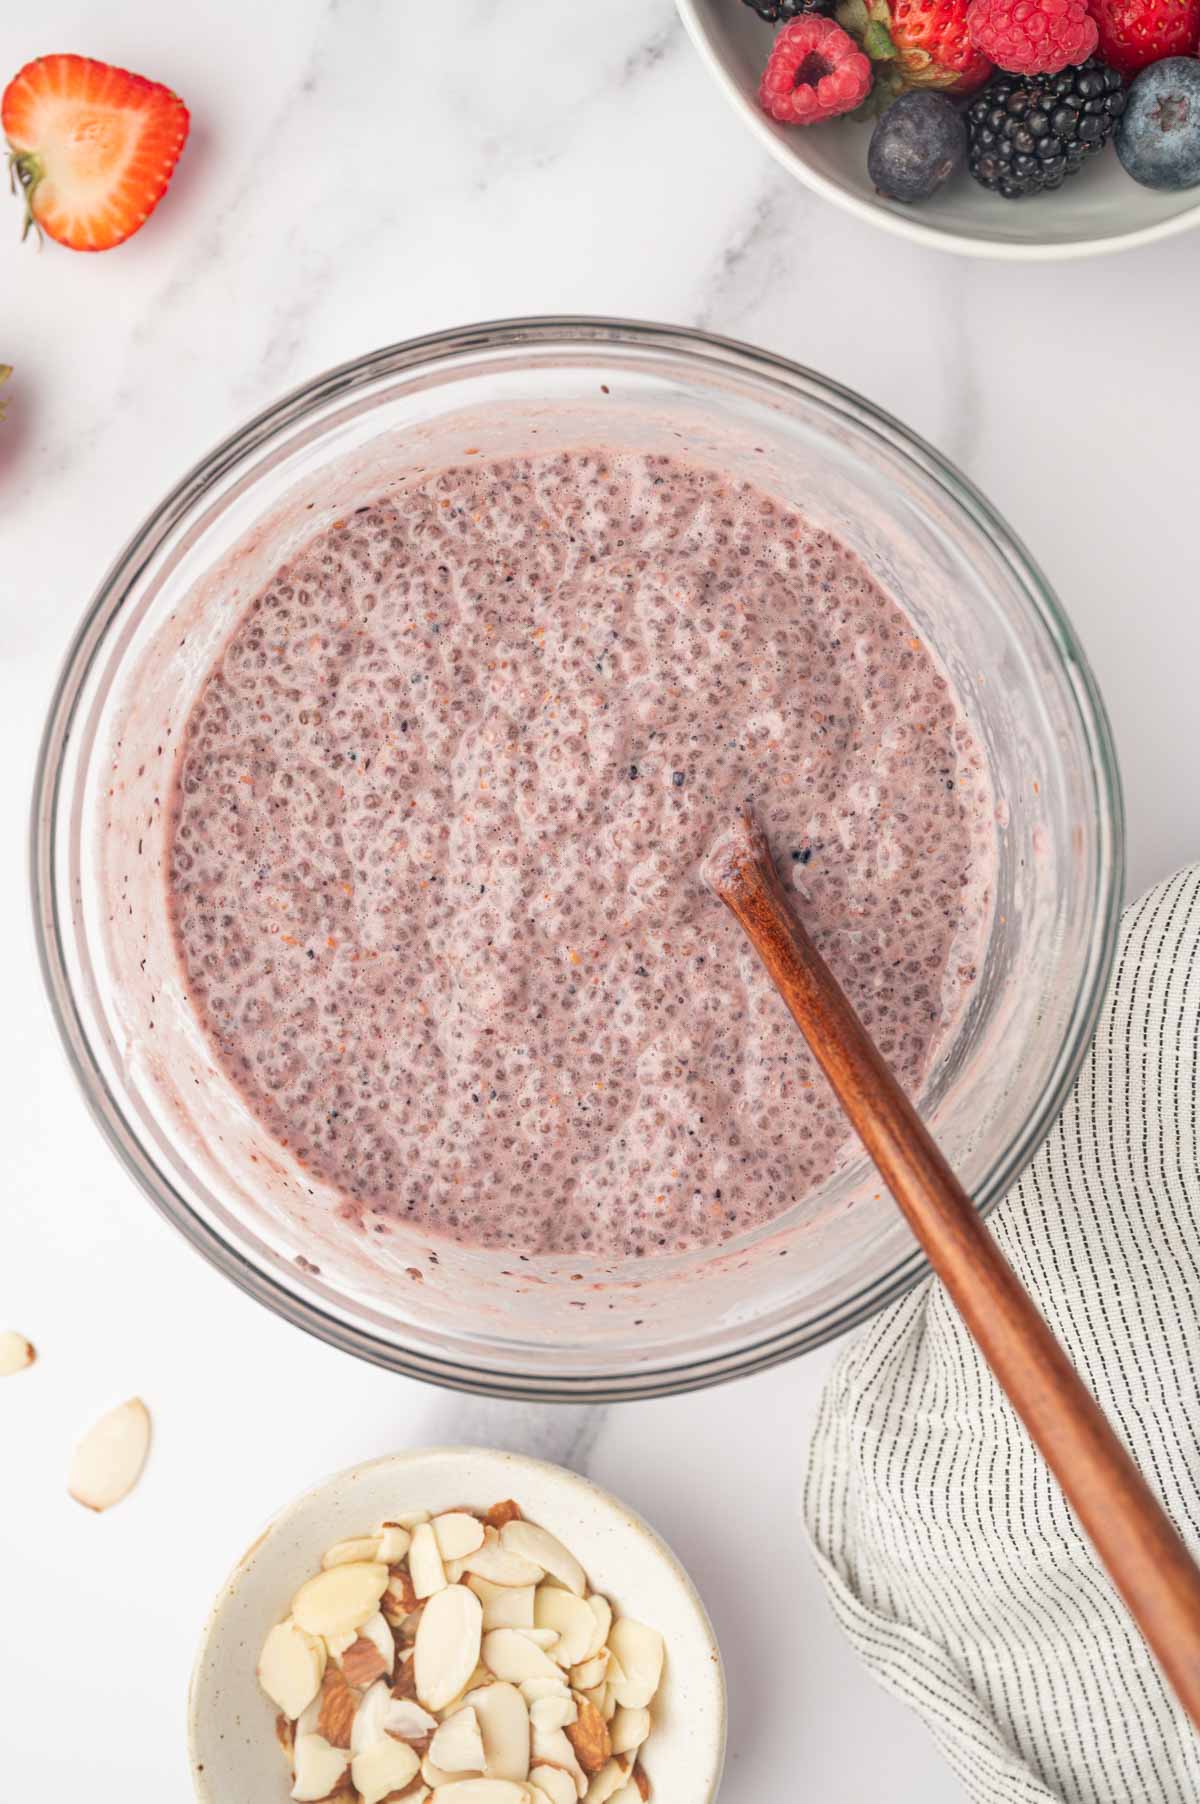
[[[1200,220],[1200,0],[677,0],[807,186],[976,256]]]

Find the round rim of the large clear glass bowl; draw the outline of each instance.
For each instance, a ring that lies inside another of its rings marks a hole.
[[[1014,570],[1030,612],[1052,640],[1065,671],[1070,673],[1081,736],[1090,750],[1090,770],[1095,783],[1095,916],[1072,1017],[1047,1077],[1041,1104],[982,1180],[976,1196],[982,1216],[1016,1182],[1048,1133],[1070,1095],[1092,1043],[1121,922],[1124,803],[1108,714],[1086,655],[1054,590],[1000,514],[940,451],[890,413],[841,382],[738,339],[691,327],[590,314],[482,321],[406,339],[336,364],[263,408],[202,456],[135,529],[99,583],[67,648],[38,749],[29,841],[34,940],[42,978],[67,1061],[105,1140],[159,1214],[182,1232],[209,1265],[217,1266],[242,1292],[282,1315],[283,1321],[318,1335],[330,1346],[384,1369],[469,1394],[529,1402],[624,1402],[669,1396],[743,1378],[823,1346],[846,1330],[861,1326],[888,1302],[902,1297],[922,1277],[928,1277],[928,1261],[913,1243],[911,1250],[879,1277],[859,1284],[848,1295],[839,1297],[816,1315],[807,1315],[801,1322],[763,1326],[734,1348],[718,1348],[700,1355],[695,1349],[686,1355],[668,1349],[653,1366],[637,1371],[623,1367],[615,1355],[603,1373],[561,1373],[547,1369],[545,1362],[536,1371],[532,1366],[514,1369],[500,1357],[484,1364],[453,1357],[444,1349],[431,1351],[413,1342],[383,1340],[370,1322],[337,1313],[336,1308],[321,1301],[319,1293],[285,1283],[242,1245],[226,1239],[179,1191],[161,1164],[148,1155],[92,1046],[83,1008],[67,969],[56,884],[65,756],[74,736],[87,680],[143,568],[186,521],[193,505],[208,492],[209,483],[256,458],[278,433],[303,422],[309,411],[325,400],[346,399],[375,381],[411,373],[415,368],[433,370],[440,361],[451,361],[464,352],[512,350],[522,345],[559,345],[565,350],[579,348],[579,345],[615,345],[684,354],[718,368],[734,368],[743,373],[749,370],[760,379],[774,381],[781,391],[807,395],[828,411],[850,419],[859,431],[873,435],[938,483],[947,498],[967,514],[971,525],[994,554]]]

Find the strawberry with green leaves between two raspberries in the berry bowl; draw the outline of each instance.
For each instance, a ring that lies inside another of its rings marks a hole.
[[[906,88],[971,94],[992,72],[971,43],[967,0],[841,0],[835,18],[875,67],[875,105]]]

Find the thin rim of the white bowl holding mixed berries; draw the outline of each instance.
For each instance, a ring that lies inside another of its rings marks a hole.
[[[733,5],[734,0],[729,0],[729,4]],[[1200,226],[1200,189],[1196,189],[1193,206],[1184,213],[1171,215],[1171,218],[1155,220],[1151,226],[1135,226],[1131,231],[1104,238],[1066,238],[1059,244],[1011,244],[1002,238],[969,238],[965,233],[942,231],[937,226],[922,224],[918,218],[893,213],[875,200],[861,200],[826,175],[821,175],[819,170],[812,170],[803,157],[792,155],[790,146],[781,143],[771,130],[765,114],[745,97],[729,74],[724,58],[713,43],[698,0],[675,0],[675,11],[698,51],[700,61],[715,78],[725,101],[734,108],[742,123],[749,126],[760,144],[771,152],[780,168],[789,170],[798,182],[803,182],[805,188],[810,188],[825,200],[832,200],[846,213],[854,213],[855,218],[866,220],[870,226],[879,226],[882,231],[891,233],[893,238],[906,240],[906,244],[920,244],[931,251],[942,251],[946,256],[978,256],[1003,263],[1065,263],[1085,256],[1115,256],[1119,251],[1133,251],[1144,244],[1177,238],[1180,233]]]

